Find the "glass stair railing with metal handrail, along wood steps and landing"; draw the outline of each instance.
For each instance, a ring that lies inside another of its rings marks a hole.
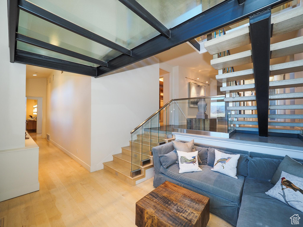
[[[131,177],[141,174],[144,166],[152,163],[152,148],[172,137],[172,132],[218,132],[233,130],[232,118],[225,113],[224,95],[203,97],[207,103],[206,114],[215,125],[203,125],[199,130],[189,129],[188,119],[196,118],[201,97],[173,99],[142,122],[131,132],[132,169]],[[197,133],[198,134],[198,133]]]

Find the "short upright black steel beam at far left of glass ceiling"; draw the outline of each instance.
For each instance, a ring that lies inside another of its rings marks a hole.
[[[16,31],[18,22],[18,0],[7,1],[8,12],[8,46],[10,62],[15,61]]]

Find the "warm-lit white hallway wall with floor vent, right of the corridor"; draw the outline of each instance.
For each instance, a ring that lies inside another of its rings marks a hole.
[[[52,143],[90,171],[91,77],[57,70],[50,74],[46,133]]]

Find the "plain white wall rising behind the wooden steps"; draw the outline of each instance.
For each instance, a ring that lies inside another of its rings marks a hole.
[[[158,110],[159,61],[151,57],[91,83],[93,172],[129,146],[131,130]]]

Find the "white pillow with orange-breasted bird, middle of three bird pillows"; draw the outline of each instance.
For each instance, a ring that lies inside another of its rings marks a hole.
[[[226,154],[215,150],[215,163],[214,168],[211,170],[238,179],[236,175],[239,158],[239,154]]]

